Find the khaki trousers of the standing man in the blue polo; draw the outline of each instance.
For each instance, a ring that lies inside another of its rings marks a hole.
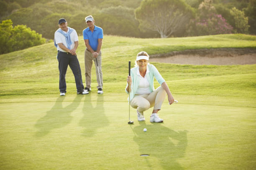
[[[85,66],[85,82],[86,82],[86,87],[87,88],[91,88],[91,71],[92,71],[92,60],[94,61],[95,64],[95,68],[96,68],[96,76],[97,76],[97,83],[98,86],[97,88],[100,88],[100,82],[103,88],[103,77],[102,77],[102,70],[101,70],[101,51],[97,57],[97,62],[98,62],[98,67],[99,67],[99,72],[100,75],[98,73],[98,69],[97,69],[97,63],[96,63],[96,58],[92,56],[92,53],[90,51],[88,51],[87,49],[85,49],[84,51],[84,66]],[[100,76],[100,78],[99,78]]]

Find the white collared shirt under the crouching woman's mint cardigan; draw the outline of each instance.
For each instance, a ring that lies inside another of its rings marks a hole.
[[[141,76],[139,67],[137,67],[137,76],[140,79],[140,83],[138,85],[138,89],[136,91],[136,94],[138,95],[144,95],[144,94],[150,94],[150,87],[149,87],[149,82],[147,79],[147,73],[149,72],[148,65],[147,65],[147,70],[146,70],[146,75],[144,77]]]

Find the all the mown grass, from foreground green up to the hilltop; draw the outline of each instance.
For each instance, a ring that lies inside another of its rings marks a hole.
[[[0,55],[0,169],[253,170],[256,167],[256,65],[176,65],[151,62],[178,104],[165,100],[164,123],[138,122],[125,93],[128,60],[200,48],[255,48],[250,35],[167,39],[105,36],[104,94],[77,95],[67,71],[59,97],[53,44]],[[84,70],[84,44],[78,58]],[[84,73],[82,72],[84,75]],[[84,76],[83,76],[84,80]],[[158,87],[155,82],[155,87]],[[147,132],[143,132],[147,128]],[[149,157],[141,157],[149,154]]]

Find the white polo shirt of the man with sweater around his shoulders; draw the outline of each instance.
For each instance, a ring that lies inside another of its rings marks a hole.
[[[70,30],[70,29],[69,29],[69,27],[68,27],[68,32],[69,32],[69,30]],[[61,31],[64,32],[64,33],[67,33],[67,32],[65,32],[65,31],[63,31],[63,30],[61,30]],[[65,45],[65,47],[67,47],[66,37],[65,37],[64,35],[62,35],[60,32],[58,32],[58,30],[56,30],[55,33],[54,33],[54,39],[55,39],[55,42],[56,42],[56,44],[57,44],[57,50],[60,50],[60,51],[62,51],[62,52],[66,52],[66,51],[62,50],[62,49],[59,47],[59,45],[58,45],[58,43],[61,43],[61,42],[62,42],[62,44]],[[72,50],[72,49],[74,48],[74,42],[78,41],[78,36],[77,36],[76,30],[73,30],[73,31],[71,32],[71,34],[70,34],[70,40],[71,40],[71,42],[72,42],[72,45],[70,45],[70,50]]]

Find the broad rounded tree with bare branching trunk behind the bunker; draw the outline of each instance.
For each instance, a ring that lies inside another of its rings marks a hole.
[[[166,38],[184,27],[192,16],[192,8],[183,0],[143,0],[135,15],[141,30],[155,30]]]

